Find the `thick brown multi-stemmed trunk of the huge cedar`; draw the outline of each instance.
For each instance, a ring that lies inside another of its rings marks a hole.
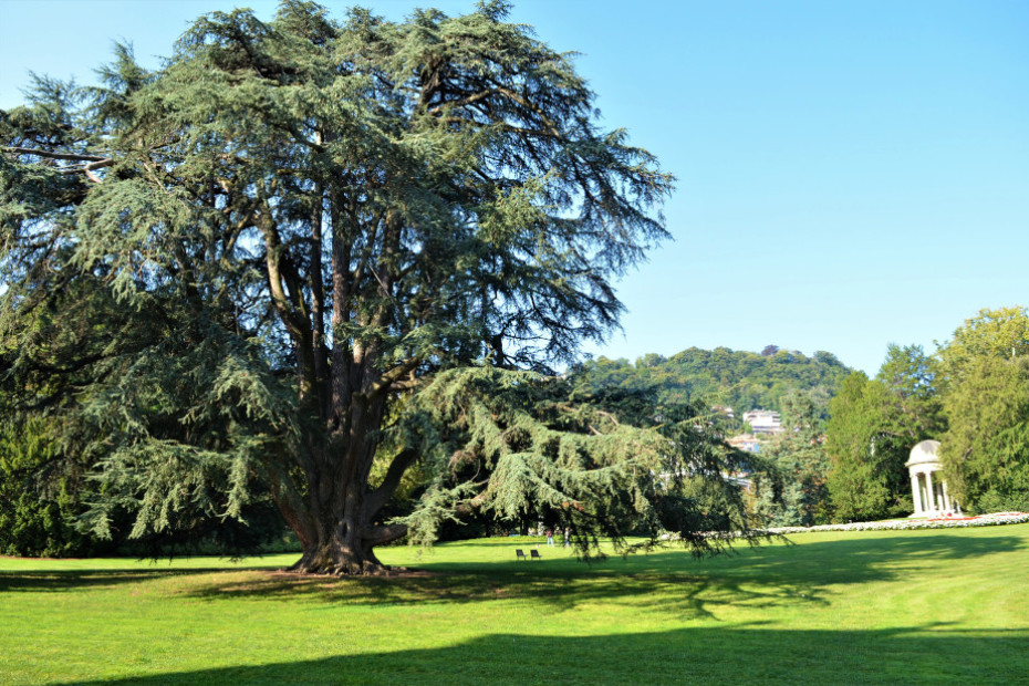
[[[414,457],[396,457],[375,488],[368,476],[391,394],[420,361],[412,355],[386,363],[378,333],[395,325],[403,222],[391,211],[362,207],[332,183],[316,185],[314,197],[306,270],[282,250],[279,227],[270,219],[273,208],[261,214],[267,218],[269,288],[297,351],[301,412],[319,426],[309,429],[308,449],[293,475],[284,477],[295,479],[295,486],[274,491],[276,500],[303,549],[292,570],[381,574],[388,568],[375,555],[375,545],[403,538],[406,527],[376,523],[376,516]],[[355,253],[362,250],[367,254]],[[326,260],[330,269],[323,274]],[[290,280],[298,273],[308,274],[306,283]],[[373,333],[354,335],[354,326]]]

